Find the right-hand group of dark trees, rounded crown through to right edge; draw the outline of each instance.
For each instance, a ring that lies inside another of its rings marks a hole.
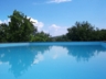
[[[95,29],[88,22],[76,22],[67,31],[70,41],[106,41],[106,30]]]

